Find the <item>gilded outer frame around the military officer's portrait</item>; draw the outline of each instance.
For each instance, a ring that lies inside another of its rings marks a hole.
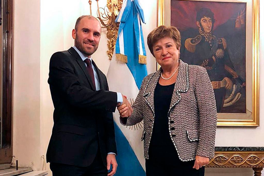
[[[157,0],[157,26],[164,25],[164,1]],[[208,0],[203,0],[208,1]],[[217,1],[216,1],[217,2]],[[220,2],[220,1],[219,1]],[[221,1],[223,2],[223,1]],[[237,2],[237,1],[224,1],[224,2]],[[252,0],[252,119],[251,120],[238,120],[238,119],[218,119],[217,126],[252,126],[258,127],[259,122],[259,92],[260,92],[260,0]],[[157,70],[160,65],[157,63]]]

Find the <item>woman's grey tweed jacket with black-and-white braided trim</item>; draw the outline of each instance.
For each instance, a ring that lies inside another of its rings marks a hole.
[[[214,157],[216,104],[213,87],[206,69],[179,60],[179,71],[168,111],[168,129],[180,160],[194,160],[196,155]],[[144,120],[141,140],[144,157],[148,149],[155,119],[154,90],[162,68],[146,76],[128,118],[120,117],[123,125],[135,125]]]

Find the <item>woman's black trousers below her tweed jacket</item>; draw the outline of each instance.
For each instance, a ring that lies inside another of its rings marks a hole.
[[[150,146],[146,176],[204,176],[205,168],[192,168],[195,161],[181,161],[174,146]]]

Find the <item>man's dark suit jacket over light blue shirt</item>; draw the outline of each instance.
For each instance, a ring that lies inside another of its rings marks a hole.
[[[117,154],[112,114],[117,95],[108,91],[106,76],[93,65],[101,87],[98,91],[74,48],[51,56],[48,83],[54,126],[47,162],[89,166],[100,147],[106,165],[107,153]]]

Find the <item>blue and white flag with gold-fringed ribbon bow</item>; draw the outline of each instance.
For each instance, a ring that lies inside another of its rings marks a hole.
[[[109,90],[126,95],[132,104],[138,95],[143,78],[147,76],[147,67],[144,64],[146,51],[140,19],[144,22],[143,10],[138,0],[124,0],[117,16],[120,28],[116,54],[113,55],[107,72]],[[125,59],[122,60],[121,57]],[[143,121],[135,126],[123,126],[119,121],[118,110],[114,113],[114,121],[118,152],[115,175],[145,176],[143,142],[140,140]]]

